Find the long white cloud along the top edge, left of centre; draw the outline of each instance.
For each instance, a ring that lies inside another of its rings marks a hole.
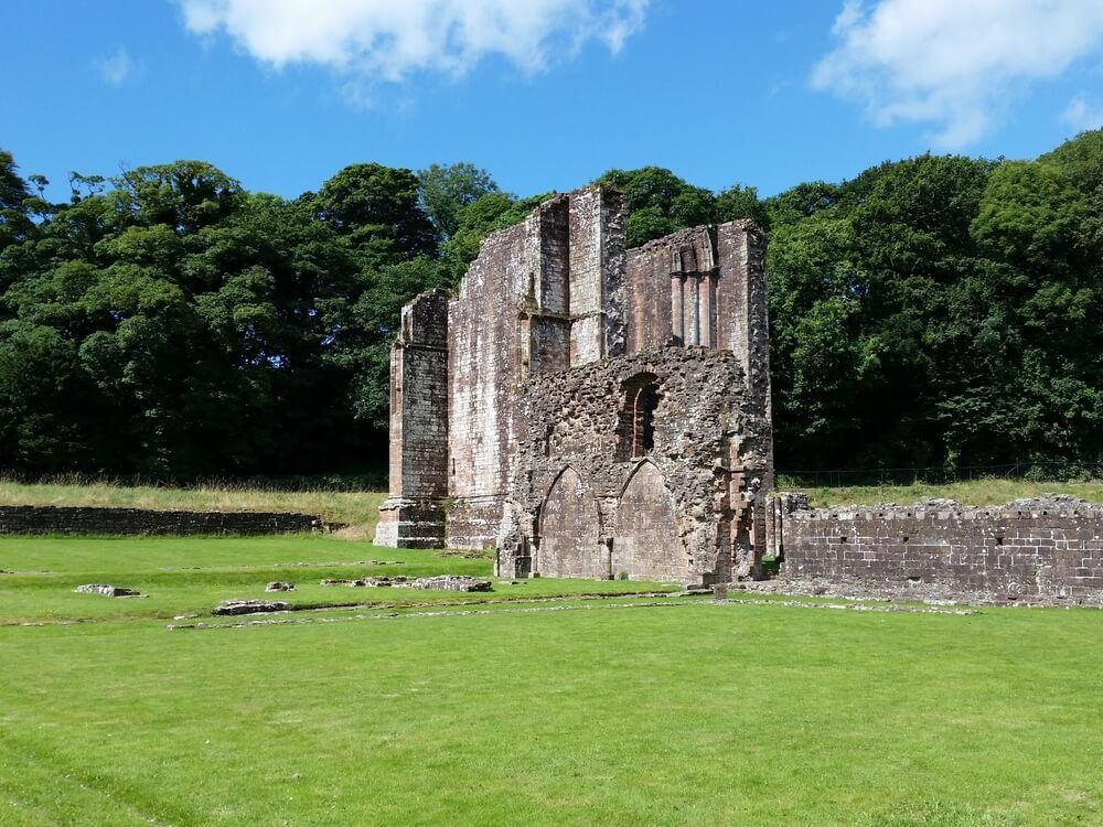
[[[190,31],[225,32],[263,63],[314,63],[368,82],[459,75],[494,54],[536,72],[589,41],[617,52],[649,1],[179,0]]]

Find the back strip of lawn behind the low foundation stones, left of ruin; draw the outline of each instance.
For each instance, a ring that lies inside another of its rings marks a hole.
[[[299,565],[306,563],[306,565]],[[323,535],[283,537],[3,537],[0,538],[0,625],[89,620],[207,615],[233,598],[265,598],[298,608],[332,604],[408,604],[457,600],[540,598],[558,594],[674,590],[633,581],[501,581],[489,558],[379,548]],[[470,574],[491,579],[490,593],[321,586],[322,579],[404,574]],[[293,592],[266,593],[272,580]],[[75,594],[82,583],[138,589],[144,598]],[[2,823],[0,823],[2,824]]]

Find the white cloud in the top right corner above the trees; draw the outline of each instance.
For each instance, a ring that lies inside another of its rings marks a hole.
[[[1103,0],[847,0],[842,41],[815,67],[815,88],[863,104],[874,122],[931,123],[946,149],[1005,117],[1034,80],[1103,52]]]

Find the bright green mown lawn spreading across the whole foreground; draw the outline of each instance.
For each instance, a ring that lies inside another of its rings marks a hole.
[[[85,620],[0,626],[0,825],[1103,824],[1097,611],[581,601],[654,587],[534,580],[474,608],[382,595],[425,604],[394,616],[152,619],[274,571],[386,569],[368,559],[489,570],[324,537],[0,540],[0,568],[47,572],[0,576],[0,617]],[[153,597],[68,591],[93,579]]]

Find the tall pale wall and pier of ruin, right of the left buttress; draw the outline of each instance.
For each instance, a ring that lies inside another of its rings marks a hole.
[[[490,236],[449,309],[452,548],[501,538],[512,488],[517,386],[623,348],[620,193],[588,187]],[[619,343],[619,344],[618,344]]]

